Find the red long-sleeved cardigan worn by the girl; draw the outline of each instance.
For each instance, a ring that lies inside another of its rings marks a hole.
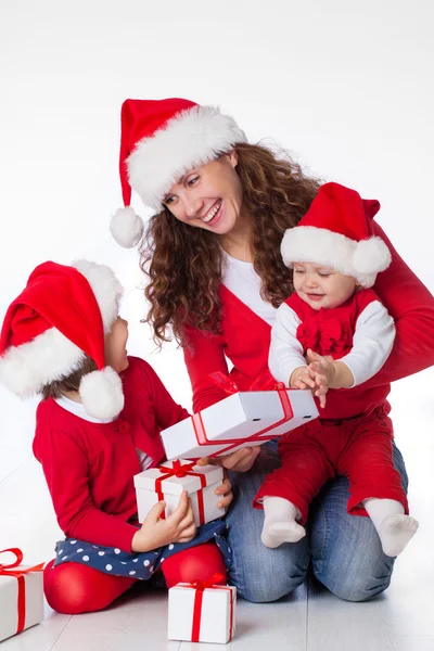
[[[125,408],[112,423],[91,423],[52,398],[42,400],[34,454],[65,535],[130,552],[137,532],[129,523],[137,515],[132,477],[141,472],[136,448],[156,465],[164,458],[161,430],[189,413],[142,359],[129,357],[122,380]]]

